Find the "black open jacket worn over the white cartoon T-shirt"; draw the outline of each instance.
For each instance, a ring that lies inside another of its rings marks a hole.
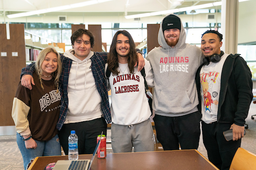
[[[201,112],[200,71],[196,73],[198,111]],[[224,62],[221,73],[221,90],[218,102],[217,121],[244,126],[250,103],[253,99],[253,82],[250,68],[239,54],[230,54]]]

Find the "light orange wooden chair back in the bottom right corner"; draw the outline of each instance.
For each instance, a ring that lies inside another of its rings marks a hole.
[[[231,162],[230,170],[252,170],[256,167],[256,155],[239,147]]]

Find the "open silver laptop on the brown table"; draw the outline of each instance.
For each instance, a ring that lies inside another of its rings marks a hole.
[[[102,132],[103,133],[103,132]],[[58,160],[52,170],[90,170],[90,167],[93,163],[93,159],[96,155],[96,152],[99,148],[101,142],[100,136],[99,142],[97,143],[93,156],[91,159],[81,159],[81,160]]]

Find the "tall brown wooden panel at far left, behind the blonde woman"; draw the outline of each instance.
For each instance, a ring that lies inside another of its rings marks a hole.
[[[26,66],[24,24],[9,24],[7,40],[6,24],[0,24],[0,126],[14,125],[12,102],[20,82],[20,72]],[[15,52],[15,54],[13,54]]]

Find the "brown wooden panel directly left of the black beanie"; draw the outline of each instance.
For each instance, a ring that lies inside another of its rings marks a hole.
[[[158,31],[160,28],[160,24],[148,24],[148,52],[151,51],[155,47],[159,47],[158,44]]]

